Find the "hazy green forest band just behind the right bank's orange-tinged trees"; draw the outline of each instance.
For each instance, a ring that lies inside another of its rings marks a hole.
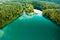
[[[36,3],[36,4],[35,4]],[[31,3],[35,9],[45,10],[45,9],[60,9],[60,5],[53,2],[46,1],[34,1]]]

